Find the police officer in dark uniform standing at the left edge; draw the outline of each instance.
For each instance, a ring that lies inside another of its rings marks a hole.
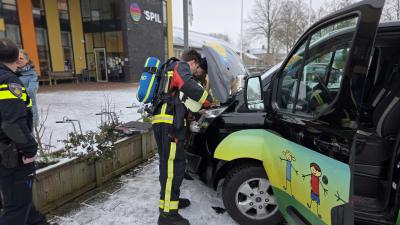
[[[18,55],[12,41],[0,39],[0,225],[50,225],[32,202],[37,144],[31,100],[14,73]]]

